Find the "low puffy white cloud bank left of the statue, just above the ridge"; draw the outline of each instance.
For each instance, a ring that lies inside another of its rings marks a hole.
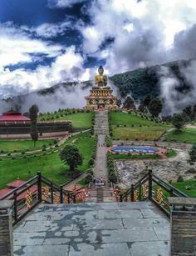
[[[8,97],[20,93],[28,93],[40,88],[48,88],[56,83],[67,81],[81,81],[84,77],[82,68],[83,58],[76,53],[74,46],[66,48],[66,53],[61,53],[51,63],[51,66],[38,66],[35,70],[18,68],[10,71],[8,68],[0,69],[0,96]]]

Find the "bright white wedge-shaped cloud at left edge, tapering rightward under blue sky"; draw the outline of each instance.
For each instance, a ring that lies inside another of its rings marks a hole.
[[[17,63],[30,63],[37,60],[39,54],[55,58],[63,48],[28,35],[26,27],[15,27],[12,23],[0,23],[0,66]],[[37,56],[36,56],[37,55]]]

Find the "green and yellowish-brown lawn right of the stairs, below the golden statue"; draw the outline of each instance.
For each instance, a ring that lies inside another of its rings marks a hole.
[[[171,126],[129,113],[110,112],[113,139],[156,140]]]

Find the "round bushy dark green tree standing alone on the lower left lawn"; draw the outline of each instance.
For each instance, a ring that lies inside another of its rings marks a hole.
[[[70,166],[71,171],[75,171],[78,165],[82,164],[83,158],[79,149],[73,145],[67,145],[61,150],[60,158]]]

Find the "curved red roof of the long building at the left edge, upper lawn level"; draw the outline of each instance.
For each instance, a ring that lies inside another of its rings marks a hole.
[[[31,122],[31,119],[23,116],[22,113],[10,110],[2,113],[0,122]]]

